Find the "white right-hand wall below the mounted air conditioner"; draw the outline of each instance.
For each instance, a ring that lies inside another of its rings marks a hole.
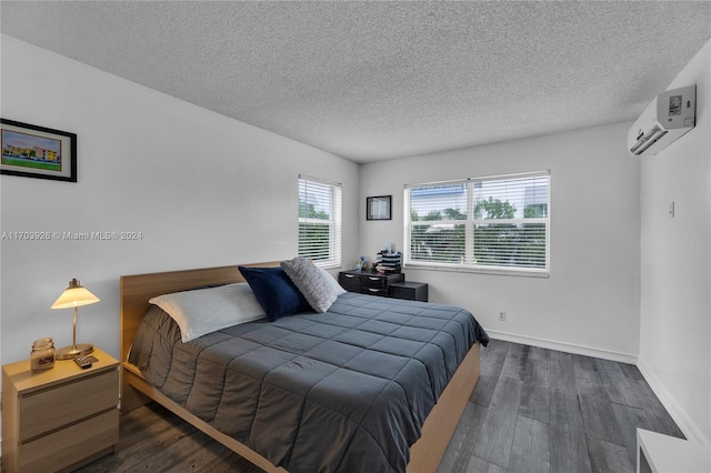
[[[684,434],[709,442],[711,42],[669,89],[694,83],[697,127],[642,160],[640,369]]]

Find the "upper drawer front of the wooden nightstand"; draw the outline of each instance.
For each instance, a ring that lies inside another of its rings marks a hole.
[[[119,372],[110,370],[21,396],[20,442],[116,407],[118,385]]]

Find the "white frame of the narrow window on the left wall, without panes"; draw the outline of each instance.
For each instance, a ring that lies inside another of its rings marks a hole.
[[[329,220],[323,219],[312,219],[309,217],[301,215],[302,208],[302,187],[307,187],[307,195],[308,188],[312,187],[317,191],[316,194],[322,194],[323,190],[328,190],[330,193],[330,212]],[[319,178],[312,178],[304,174],[299,174],[299,185],[298,185],[298,251],[299,256],[308,258],[313,261],[313,263],[323,269],[332,269],[340,268],[342,264],[342,228],[343,228],[343,190],[342,185],[338,182],[327,181]],[[319,224],[329,228],[329,242],[328,242],[328,259],[314,259],[313,252],[307,252],[302,248],[302,229],[304,229],[304,224]]]

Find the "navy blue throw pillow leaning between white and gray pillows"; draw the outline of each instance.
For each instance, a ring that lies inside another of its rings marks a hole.
[[[238,266],[252,288],[270,322],[282,316],[312,311],[307,299],[291,282],[283,269]]]

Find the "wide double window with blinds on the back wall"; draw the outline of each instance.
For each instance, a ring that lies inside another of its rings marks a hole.
[[[404,263],[548,274],[550,171],[404,189]]]

